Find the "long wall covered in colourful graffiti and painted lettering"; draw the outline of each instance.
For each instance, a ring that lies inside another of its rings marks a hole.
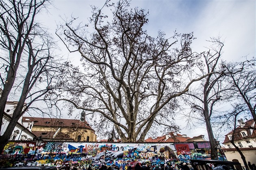
[[[173,164],[189,159],[209,159],[209,148],[193,148],[189,144],[173,143],[77,143],[43,142],[37,149],[35,142],[9,142],[0,155],[0,164],[22,164],[36,161],[39,165],[80,164],[97,170],[101,164],[115,164],[123,169],[146,164]],[[36,151],[36,153],[35,153]]]

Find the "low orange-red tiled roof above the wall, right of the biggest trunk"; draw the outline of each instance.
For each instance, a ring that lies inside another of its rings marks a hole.
[[[168,133],[171,137],[166,140],[166,135],[164,136],[158,136],[156,139],[148,138],[145,140],[145,142],[186,142],[188,139],[191,139],[189,137],[183,137],[181,134],[174,133]]]

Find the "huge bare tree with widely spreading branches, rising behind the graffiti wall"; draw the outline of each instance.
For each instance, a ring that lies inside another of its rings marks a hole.
[[[150,37],[143,30],[148,24],[143,9],[129,9],[126,0],[105,7],[113,11],[112,22],[102,14],[105,8],[93,7],[88,25],[75,26],[73,19],[57,30],[69,51],[80,53],[85,69],[74,67],[63,80],[67,96],[59,100],[72,103],[70,112],[75,107],[91,115],[96,131],[114,125],[123,142],[143,142],[150,131],[165,132],[163,127],[179,130],[171,122],[177,97],[211,74],[192,76],[201,67],[201,54],[191,49],[193,34],[175,32],[166,39],[159,31]]]

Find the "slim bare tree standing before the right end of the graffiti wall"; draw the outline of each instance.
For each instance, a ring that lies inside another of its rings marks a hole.
[[[202,69],[203,74],[209,74],[201,80],[201,84],[193,90],[190,90],[189,96],[185,101],[191,106],[191,112],[187,114],[187,120],[193,122],[197,113],[199,113],[199,120],[206,125],[210,149],[211,159],[218,159],[217,140],[213,133],[213,115],[217,113],[214,109],[220,101],[228,99],[229,95],[225,91],[228,90],[223,84],[224,69],[221,64],[221,53],[223,43],[214,38],[211,40],[215,44],[214,47],[208,49],[208,52],[203,54],[205,69]],[[196,121],[198,122],[198,121]]]

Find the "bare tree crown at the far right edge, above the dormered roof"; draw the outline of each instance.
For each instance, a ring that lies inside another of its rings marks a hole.
[[[227,81],[235,92],[236,105],[246,105],[256,123],[256,59],[226,63],[225,67],[229,72]]]

